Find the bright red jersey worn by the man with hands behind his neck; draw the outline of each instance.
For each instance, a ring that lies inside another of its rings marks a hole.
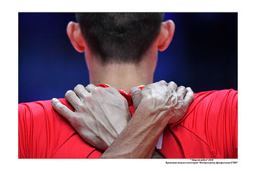
[[[119,92],[133,115],[131,96]],[[195,93],[183,119],[165,127],[159,152],[165,158],[237,158],[237,91]],[[19,104],[19,158],[99,158],[102,153],[54,111],[51,100]]]

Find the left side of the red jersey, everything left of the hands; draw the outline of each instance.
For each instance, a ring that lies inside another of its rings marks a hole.
[[[94,150],[54,111],[51,100],[19,104],[19,158],[87,158]]]

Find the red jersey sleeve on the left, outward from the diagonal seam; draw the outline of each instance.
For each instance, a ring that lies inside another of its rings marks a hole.
[[[59,99],[70,105],[66,100]],[[51,107],[51,100],[19,104],[19,158],[51,158],[76,131]]]

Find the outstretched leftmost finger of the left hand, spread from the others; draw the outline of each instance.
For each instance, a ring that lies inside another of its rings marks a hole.
[[[67,120],[69,120],[74,112],[72,112],[66,105],[60,103],[60,101],[56,98],[51,100],[52,108],[55,109],[60,115],[64,116]]]

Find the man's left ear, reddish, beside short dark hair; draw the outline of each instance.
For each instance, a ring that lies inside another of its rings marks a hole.
[[[67,25],[67,35],[76,51],[82,53],[85,50],[85,43],[82,31],[78,23],[69,22]]]

